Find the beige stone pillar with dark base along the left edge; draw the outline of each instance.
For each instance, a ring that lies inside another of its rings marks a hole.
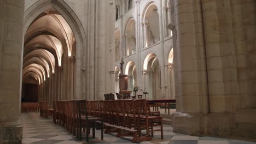
[[[22,143],[23,14],[23,0],[0,0],[0,143]]]

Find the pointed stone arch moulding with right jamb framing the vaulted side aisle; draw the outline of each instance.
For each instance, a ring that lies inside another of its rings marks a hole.
[[[74,53],[77,53],[75,55],[75,65],[74,65],[74,99],[82,98],[81,95],[84,95],[82,93],[86,92],[86,75],[83,75],[83,73],[86,73],[86,71],[82,71],[82,69],[85,68],[86,65],[86,53],[87,49],[84,49],[87,43],[87,38],[84,32],[84,28],[82,26],[82,23],[78,19],[77,15],[74,13],[74,11],[63,1],[63,0],[42,0],[34,3],[25,10],[24,14],[24,37],[25,33],[28,29],[28,27],[31,25],[31,23],[38,17],[40,14],[42,14],[45,10],[48,9],[54,9],[58,11],[63,18],[67,21],[68,25],[71,27],[72,32],[74,34],[75,38],[75,50]],[[73,56],[73,55],[72,55]]]

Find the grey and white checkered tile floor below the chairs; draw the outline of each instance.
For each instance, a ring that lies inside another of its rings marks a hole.
[[[73,144],[86,143],[85,140],[79,141],[75,136],[68,133],[65,128],[54,124],[52,119],[39,117],[39,113],[22,113],[20,117],[24,126],[23,143],[34,144]],[[216,137],[197,137],[182,134],[175,134],[172,127],[164,125],[164,140],[160,139],[160,133],[155,132],[152,141],[141,143],[159,143],[159,144],[256,144],[256,142],[246,142],[238,140],[220,139]],[[89,143],[132,143],[131,137],[123,139],[113,135],[105,134],[104,140],[100,140],[100,130],[96,130],[96,139],[90,137]],[[85,137],[83,138],[85,139]]]

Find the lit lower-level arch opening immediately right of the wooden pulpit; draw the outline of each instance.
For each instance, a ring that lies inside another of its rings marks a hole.
[[[128,89],[132,91],[133,86],[137,86],[136,64],[129,61],[125,67],[125,75],[128,77]]]

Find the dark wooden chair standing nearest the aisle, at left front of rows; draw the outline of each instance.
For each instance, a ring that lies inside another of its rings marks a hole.
[[[79,139],[81,140],[82,127],[86,127],[86,141],[89,141],[89,131],[92,128],[92,137],[95,137],[95,128],[101,128],[101,140],[103,140],[103,119],[98,117],[89,117],[86,107],[86,100],[77,101],[79,115]],[[83,118],[83,116],[85,116]],[[96,123],[100,121],[101,123]]]

